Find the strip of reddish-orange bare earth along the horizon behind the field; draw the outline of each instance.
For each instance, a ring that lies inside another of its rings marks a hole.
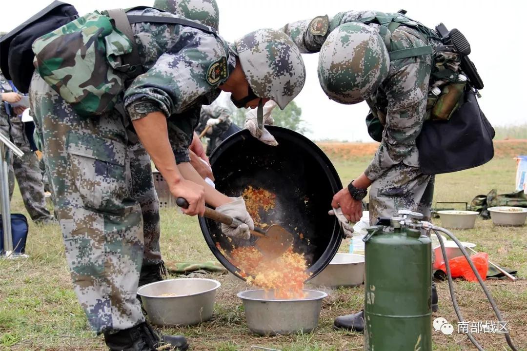
[[[347,160],[372,157],[379,143],[317,143],[331,159]],[[527,154],[527,139],[494,141],[494,157],[515,157]]]

